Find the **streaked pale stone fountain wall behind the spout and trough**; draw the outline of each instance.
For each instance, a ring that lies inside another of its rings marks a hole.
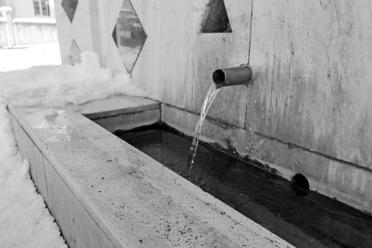
[[[203,139],[372,212],[371,2],[225,0],[232,33],[206,34],[208,1],[132,0],[148,36],[133,82],[192,133],[213,70],[250,62],[254,85],[220,91]],[[122,2],[91,12],[94,49],[116,71],[125,70],[111,38]]]

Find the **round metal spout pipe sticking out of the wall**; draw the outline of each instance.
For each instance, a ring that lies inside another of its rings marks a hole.
[[[241,64],[239,67],[215,70],[212,79],[220,87],[250,84],[254,79],[254,72],[249,64]]]

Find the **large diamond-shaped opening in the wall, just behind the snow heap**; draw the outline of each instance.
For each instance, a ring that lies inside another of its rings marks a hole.
[[[132,72],[147,35],[130,0],[123,1],[112,35],[123,64]]]

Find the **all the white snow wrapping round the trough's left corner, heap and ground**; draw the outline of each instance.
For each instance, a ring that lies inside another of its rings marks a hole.
[[[0,72],[0,247],[67,247],[18,152],[6,105],[58,107],[118,94],[147,96],[128,74],[114,74],[98,61],[96,53],[83,52],[74,66]]]

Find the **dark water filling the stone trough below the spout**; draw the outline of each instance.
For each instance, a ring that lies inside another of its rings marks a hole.
[[[116,132],[126,142],[183,174],[191,138],[167,128]],[[296,247],[372,247],[372,217],[200,144],[188,179]]]

